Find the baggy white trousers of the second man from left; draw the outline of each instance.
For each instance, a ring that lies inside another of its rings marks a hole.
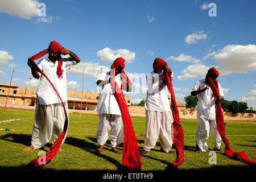
[[[97,142],[103,146],[109,138],[108,131],[110,131],[110,142],[112,147],[116,147],[123,143],[123,121],[121,115],[116,114],[99,114]]]

